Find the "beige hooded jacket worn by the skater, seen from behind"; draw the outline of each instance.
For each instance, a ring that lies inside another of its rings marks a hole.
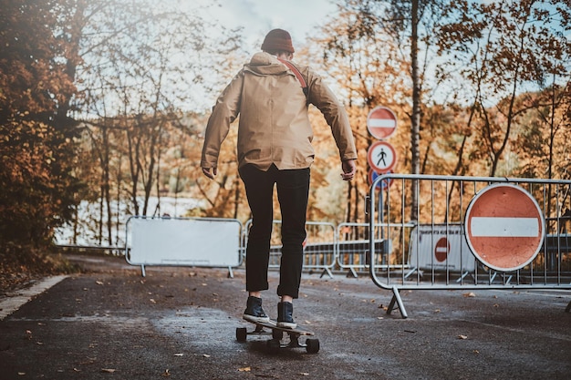
[[[309,67],[298,67],[306,78],[309,103],[331,127],[340,159],[357,159],[348,116],[331,90]],[[238,162],[262,170],[305,169],[313,162],[313,131],[306,96],[295,74],[275,56],[257,53],[223,90],[206,126],[202,168],[215,168],[230,124],[240,115]]]

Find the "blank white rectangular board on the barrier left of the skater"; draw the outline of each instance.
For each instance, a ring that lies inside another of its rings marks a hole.
[[[131,218],[128,226],[127,262],[132,265],[240,264],[240,221]]]

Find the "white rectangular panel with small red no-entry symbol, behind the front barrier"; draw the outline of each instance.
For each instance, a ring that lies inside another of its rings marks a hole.
[[[420,270],[466,272],[475,269],[462,224],[415,227],[410,232],[409,260],[410,266]]]

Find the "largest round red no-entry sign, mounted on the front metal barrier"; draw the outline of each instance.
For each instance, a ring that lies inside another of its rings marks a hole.
[[[464,224],[472,253],[496,271],[523,268],[535,259],[544,241],[539,205],[531,194],[511,184],[491,185],[477,193]]]

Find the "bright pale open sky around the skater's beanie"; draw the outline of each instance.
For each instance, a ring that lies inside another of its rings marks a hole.
[[[196,1],[196,0],[195,0]],[[287,30],[294,47],[305,44],[316,26],[323,25],[327,15],[337,10],[336,0],[217,0],[219,6],[204,11],[208,18],[230,28],[242,26],[244,50],[259,51],[264,36],[272,29]],[[213,0],[198,0],[195,4],[212,5]]]

